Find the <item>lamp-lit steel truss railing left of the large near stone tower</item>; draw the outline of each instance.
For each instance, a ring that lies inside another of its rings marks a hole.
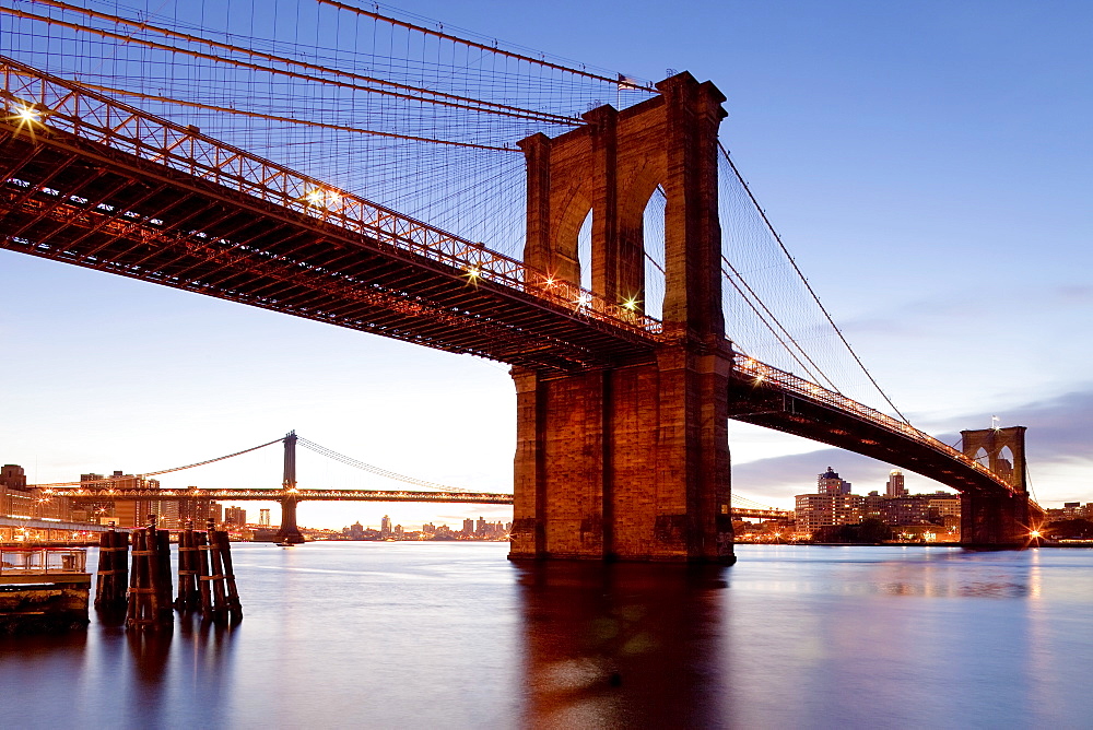
[[[176,125],[2,56],[0,76],[4,116],[28,133],[68,132],[451,267],[462,271],[469,284],[489,281],[588,319],[647,335],[661,332],[659,320],[624,304],[219,142],[196,127]]]

